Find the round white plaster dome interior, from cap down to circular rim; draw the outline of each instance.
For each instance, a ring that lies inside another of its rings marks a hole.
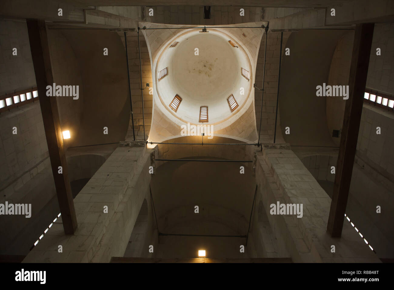
[[[163,105],[173,116],[190,123],[199,123],[201,106],[208,106],[209,123],[221,122],[235,113],[227,103],[231,94],[239,109],[249,96],[250,84],[241,75],[241,67],[250,71],[246,53],[241,47],[232,47],[232,39],[223,32],[207,29],[209,32],[194,30],[177,37],[178,44],[165,48],[156,66],[156,75],[168,67],[168,75],[157,81]],[[169,104],[176,94],[182,102],[177,112],[172,112]]]

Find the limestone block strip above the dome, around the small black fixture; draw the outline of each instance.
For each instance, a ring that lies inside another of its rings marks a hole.
[[[149,16],[149,9],[153,16]],[[240,15],[243,8],[245,16]],[[146,6],[144,7],[147,22],[163,24],[200,24],[224,25],[261,20],[261,7],[250,6],[211,6],[210,19],[204,19],[204,6]]]

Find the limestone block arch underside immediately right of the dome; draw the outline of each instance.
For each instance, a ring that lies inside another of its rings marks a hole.
[[[270,24],[271,25],[271,24]],[[282,57],[286,49],[286,42],[291,32],[283,34],[282,42]],[[255,83],[259,88],[262,88],[263,71],[264,71],[264,50],[266,38],[263,35],[258,51],[256,79]],[[256,113],[256,127],[260,128],[260,112],[261,116],[261,133],[260,142],[273,143],[274,129],[275,129],[275,114],[276,114],[276,100],[278,92],[278,75],[279,75],[279,50],[281,47],[281,33],[269,32],[267,36],[267,54],[266,54],[266,68],[264,78],[264,96],[263,106],[261,107],[262,94],[260,90],[255,90],[255,113]],[[262,111],[261,111],[262,110]],[[278,111],[277,124],[277,140],[284,142],[282,139],[280,127],[280,115]],[[277,141],[277,142],[278,142]]]

